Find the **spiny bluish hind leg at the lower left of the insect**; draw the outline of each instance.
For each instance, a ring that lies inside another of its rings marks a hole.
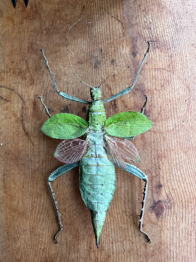
[[[55,193],[53,191],[53,188],[51,186],[51,181],[55,180],[55,178],[57,178],[58,176],[62,175],[63,173],[65,173],[66,171],[74,168],[75,166],[78,166],[80,164],[80,161],[73,163],[73,164],[64,164],[63,166],[57,168],[54,172],[51,173],[51,175],[48,178],[48,185],[49,185],[49,192],[51,194],[52,197],[52,201],[54,203],[54,207],[57,213],[57,217],[58,217],[58,222],[60,225],[60,229],[59,231],[56,233],[56,235],[54,236],[54,243],[57,244],[57,236],[63,231],[63,224],[62,224],[62,220],[61,220],[61,214],[59,212],[58,206],[57,206],[57,201],[54,197]]]

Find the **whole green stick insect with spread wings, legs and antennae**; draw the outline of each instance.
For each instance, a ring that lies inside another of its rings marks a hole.
[[[73,24],[72,26],[74,26],[75,24]],[[69,28],[69,30],[71,29],[71,27]],[[105,109],[103,106],[103,104],[119,98],[125,94],[128,94],[131,91],[131,89],[135,85],[141,67],[147,57],[149,48],[150,43],[148,42],[147,52],[131,87],[127,87],[116,95],[101,101],[100,86],[112,74],[114,74],[122,59],[114,72],[98,87],[93,87],[85,83],[90,87],[90,94],[92,98],[91,102],[69,96],[58,90],[54,78],[50,72],[48,60],[44,55],[44,49],[40,50],[42,52],[44,60],[46,61],[46,66],[49,70],[49,74],[57,93],[65,99],[89,105],[87,121],[82,119],[80,116],[66,113],[50,116],[49,110],[42,100],[42,96],[40,97],[40,100],[45,107],[46,113],[49,116],[49,119],[43,124],[41,128],[42,132],[52,138],[64,139],[64,141],[61,142],[56,148],[54,157],[65,164],[52,172],[48,178],[49,191],[55,206],[58,222],[60,225],[59,231],[54,236],[55,243],[57,243],[57,236],[63,230],[63,224],[61,220],[61,214],[59,213],[59,209],[57,207],[57,201],[54,196],[55,194],[50,182],[55,180],[61,174],[78,165],[80,166],[80,191],[82,199],[91,213],[97,247],[99,246],[99,238],[106,218],[106,213],[114,197],[114,191],[116,187],[115,166],[127,170],[128,172],[134,174],[135,176],[146,182],[143,193],[144,198],[142,201],[139,229],[143,234],[147,236],[147,242],[150,243],[148,234],[142,229],[145,202],[147,197],[148,179],[147,176],[139,168],[132,164],[128,164],[123,160],[124,157],[130,162],[140,162],[139,153],[136,147],[129,141],[129,139],[132,140],[135,135],[139,135],[149,130],[153,125],[153,123],[147,118],[147,116],[143,115],[144,109],[147,104],[147,96],[141,113],[135,111],[123,112],[106,119]],[[70,58],[69,62],[71,65]],[[82,135],[83,140],[78,138]],[[120,140],[116,137],[121,137],[124,140]]]

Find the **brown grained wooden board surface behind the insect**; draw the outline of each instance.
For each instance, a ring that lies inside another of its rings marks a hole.
[[[85,119],[87,107],[64,100],[54,90],[45,55],[59,90],[90,99],[89,87],[73,74],[68,49],[79,77],[102,85],[102,98],[131,86],[147,50],[151,49],[129,95],[106,104],[107,117],[140,111],[150,131],[134,144],[149,178],[144,230],[138,229],[144,182],[117,169],[117,188],[95,245],[91,217],[79,190],[75,168],[52,185],[57,192],[64,231],[58,230],[47,177],[62,165],[53,157],[60,140],[40,128],[51,114]],[[0,3],[0,261],[5,262],[194,262],[196,261],[196,3],[194,0],[11,0]]]

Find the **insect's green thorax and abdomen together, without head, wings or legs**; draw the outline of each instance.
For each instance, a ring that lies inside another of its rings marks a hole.
[[[105,150],[103,126],[106,116],[102,102],[92,101],[88,114],[89,148],[80,163],[80,190],[82,199],[91,212],[98,244],[106,213],[114,196],[116,174],[114,164],[108,160]]]

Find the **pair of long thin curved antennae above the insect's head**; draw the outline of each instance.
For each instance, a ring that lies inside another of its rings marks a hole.
[[[105,11],[106,12],[108,12],[106,9],[105,9]],[[108,14],[110,15],[110,16],[112,16],[109,12],[108,12]],[[84,15],[84,13],[82,14],[82,17],[83,17],[83,15]],[[73,72],[74,72],[74,74],[75,74],[75,76],[82,82],[82,83],[84,83],[84,84],[86,84],[86,85],[88,85],[88,86],[90,86],[90,87],[92,87],[91,85],[89,85],[89,84],[87,84],[87,83],[85,83],[85,82],[83,82],[81,79],[80,79],[80,77],[79,76],[77,76],[77,74],[76,74],[76,72],[74,71],[74,69],[73,69],[73,67],[72,67],[72,65],[71,65],[71,60],[70,60],[70,57],[69,57],[69,53],[68,53],[68,49],[67,49],[67,38],[68,38],[68,33],[69,33],[69,31],[70,31],[70,29],[74,26],[74,25],[76,25],[81,19],[82,19],[82,17],[76,22],[76,23],[74,23],[72,26],[70,26],[70,28],[69,28],[69,30],[68,30],[68,32],[67,32],[67,35],[66,35],[66,51],[67,51],[67,55],[68,55],[68,58],[69,58],[69,63],[70,63],[70,66],[71,66],[71,69],[73,70]],[[112,17],[114,17],[114,16],[112,16]],[[123,54],[124,54],[124,41],[125,41],[125,29],[124,29],[124,26],[123,26],[123,23],[118,19],[118,18],[116,18],[116,17],[114,17],[115,19],[117,19],[120,23],[121,23],[121,25],[122,25],[122,27],[123,27],[123,47],[122,47],[122,58],[121,58],[121,60],[120,60],[120,63],[118,64],[118,66],[116,67],[116,69],[114,70],[114,72],[118,69],[118,67],[120,66],[120,64],[121,64],[121,62],[122,62],[122,60],[123,60]],[[113,74],[114,74],[114,72],[109,76],[109,77],[107,77],[106,78],[106,80],[104,80],[98,87],[100,87],[104,82],[106,82]]]

